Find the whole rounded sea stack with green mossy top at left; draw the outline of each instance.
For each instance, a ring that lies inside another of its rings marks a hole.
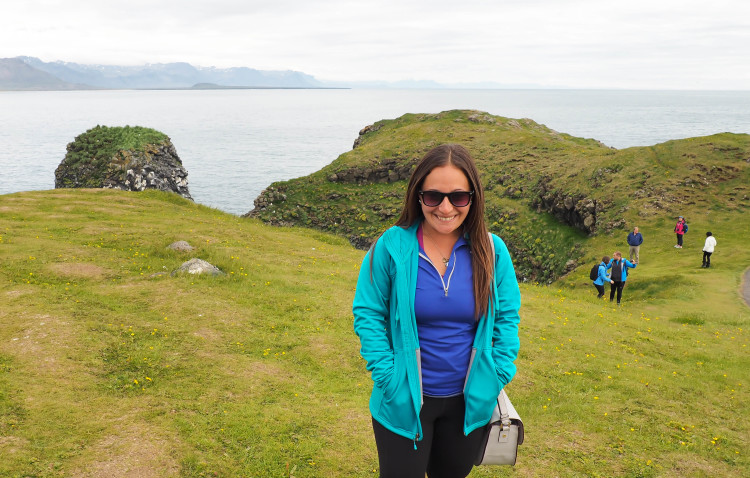
[[[55,188],[159,189],[192,199],[169,137],[140,126],[96,126],[68,144]]]

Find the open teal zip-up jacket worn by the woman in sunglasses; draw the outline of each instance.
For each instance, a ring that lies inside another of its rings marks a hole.
[[[352,306],[354,331],[374,382],[370,412],[380,424],[415,442],[422,439],[421,364],[414,315],[418,226],[388,229],[365,255]],[[520,346],[518,281],[505,243],[494,234],[492,239],[494,307],[491,316],[479,320],[464,385],[467,435],[489,423],[500,390],[516,373],[513,362]]]

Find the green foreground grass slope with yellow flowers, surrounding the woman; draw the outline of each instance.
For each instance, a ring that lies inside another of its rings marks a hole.
[[[691,198],[682,250],[666,211],[642,217],[623,307],[597,301],[583,268],[522,284],[508,392],[526,442],[515,468],[472,477],[750,474],[750,309],[738,293],[750,229],[744,206]],[[369,196],[350,200],[364,208]],[[707,228],[718,239],[708,270]],[[610,253],[623,247],[616,232],[576,241],[584,256]],[[167,249],[176,240],[196,250]],[[0,196],[0,476],[377,476],[352,332],[363,254],[157,191]],[[227,275],[169,274],[191,257]]]

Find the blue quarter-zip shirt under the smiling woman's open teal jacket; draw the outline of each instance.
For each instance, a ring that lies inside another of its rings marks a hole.
[[[424,395],[460,395],[477,328],[471,248],[463,236],[453,246],[444,277],[420,241],[414,312]]]

